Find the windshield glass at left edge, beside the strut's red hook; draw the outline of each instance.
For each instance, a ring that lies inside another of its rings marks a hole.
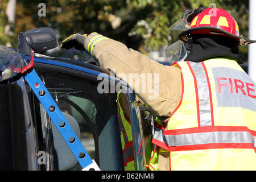
[[[18,75],[27,61],[25,57],[13,49],[0,46],[0,80]]]

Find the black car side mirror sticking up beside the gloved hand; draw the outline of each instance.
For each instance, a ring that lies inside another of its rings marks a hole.
[[[24,33],[19,33],[18,52],[24,55],[30,55],[31,49],[33,49],[35,53],[40,53],[57,46],[56,32],[52,28],[35,28]]]

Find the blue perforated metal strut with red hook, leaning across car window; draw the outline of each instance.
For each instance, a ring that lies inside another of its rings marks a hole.
[[[75,155],[76,159],[82,167],[82,170],[89,171],[89,169],[94,169],[95,171],[100,171],[97,163],[90,158],[84,146],[82,146],[79,138],[76,136],[72,127],[69,125],[67,119],[65,119],[64,115],[61,113],[61,110],[57,106],[56,102],[53,100],[46,86],[44,86],[43,82],[40,80],[40,77],[35,72],[35,70],[32,69],[33,64],[34,51],[31,51],[30,64],[24,67],[22,71],[22,73],[26,73],[24,78],[30,85],[36,97],[38,97],[38,100],[47,111],[52,122],[55,124],[61,136],[64,138],[65,142],[68,144],[69,148]],[[29,72],[29,69],[32,69],[32,71]]]

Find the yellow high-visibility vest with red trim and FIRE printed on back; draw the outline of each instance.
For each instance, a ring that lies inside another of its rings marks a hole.
[[[170,169],[255,170],[255,82],[230,59],[173,66],[181,69],[181,101],[152,140],[170,152]],[[158,169],[158,150],[150,165]]]

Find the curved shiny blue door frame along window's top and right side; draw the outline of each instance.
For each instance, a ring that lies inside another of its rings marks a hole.
[[[72,62],[68,60],[68,62]],[[77,63],[77,61],[74,61]],[[50,71],[57,71],[63,73],[70,73],[72,75],[77,75],[80,77],[86,77],[90,80],[97,81],[98,77],[101,73],[107,73],[104,69],[99,67],[86,68],[81,65],[65,63],[63,61],[57,60],[48,60],[35,58],[34,60],[34,68],[35,69],[47,69]],[[103,71],[102,71],[103,70]],[[118,80],[117,78],[113,78],[109,75],[110,82],[114,81],[115,85],[123,82]],[[42,80],[43,81],[43,80]],[[99,81],[98,81],[99,82]],[[127,85],[126,83],[123,83]],[[143,171],[146,170],[146,158],[144,153],[144,142],[143,142],[143,132],[141,126],[141,115],[139,110],[138,98],[134,94],[133,90],[129,86],[127,86],[126,96],[129,100],[129,113],[131,117],[131,129],[133,131],[133,141],[134,141],[134,160],[135,160],[135,171]]]

